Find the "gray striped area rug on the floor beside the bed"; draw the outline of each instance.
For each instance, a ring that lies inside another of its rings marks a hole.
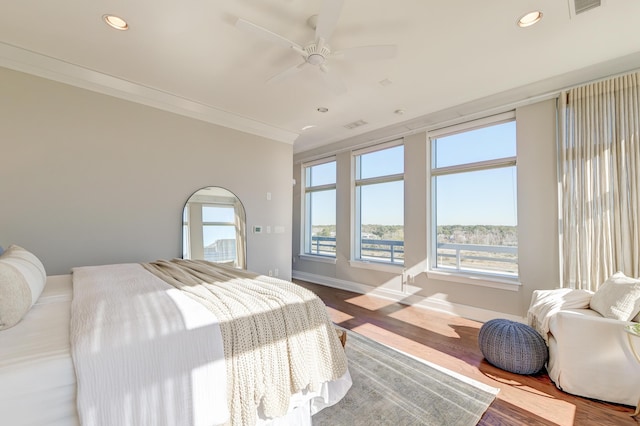
[[[348,332],[353,386],[314,426],[467,426],[480,421],[498,390]]]

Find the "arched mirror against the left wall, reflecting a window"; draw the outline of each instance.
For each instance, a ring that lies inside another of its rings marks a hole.
[[[209,186],[194,192],[182,213],[182,257],[246,269],[246,215],[231,191]]]

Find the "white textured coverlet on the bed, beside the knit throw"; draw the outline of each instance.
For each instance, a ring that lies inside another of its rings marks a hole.
[[[207,309],[139,264],[75,268],[73,290],[84,426],[227,421],[222,337]]]

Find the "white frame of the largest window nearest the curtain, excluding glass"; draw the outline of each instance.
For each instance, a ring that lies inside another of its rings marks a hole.
[[[437,266],[437,244],[438,231],[436,223],[436,177],[446,176],[458,173],[475,172],[482,170],[496,170],[505,167],[515,167],[516,176],[518,172],[517,161],[517,136],[516,136],[516,155],[489,160],[481,160],[472,163],[458,164],[452,166],[434,167],[434,145],[433,141],[455,134],[470,132],[473,130],[496,126],[508,122],[514,122],[517,126],[515,111],[484,117],[477,120],[468,121],[457,124],[455,126],[444,127],[429,131],[427,133],[427,200],[429,208],[427,209],[427,276],[429,278],[441,279],[446,281],[455,281],[466,284],[476,284],[481,286],[500,288],[506,290],[517,291],[520,284],[520,270],[515,275],[508,273],[499,273],[491,271],[475,271],[468,269],[442,268]],[[516,177],[517,186],[517,177]],[[515,196],[515,203],[518,204],[518,194]],[[517,220],[517,217],[516,217]],[[518,224],[516,223],[516,229]],[[519,246],[519,242],[518,242]]]

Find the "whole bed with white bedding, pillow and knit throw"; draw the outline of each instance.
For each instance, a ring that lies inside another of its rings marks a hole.
[[[37,261],[17,252],[29,265]],[[0,268],[6,257],[0,256]],[[3,423],[304,425],[349,390],[346,356],[324,305],[321,322],[311,312],[318,311],[313,293],[238,271],[214,285],[235,298],[225,299],[224,309],[235,312],[240,304],[254,313],[231,318],[207,306],[210,300],[198,300],[202,289],[180,284],[189,279],[178,280],[183,271],[173,270],[174,262],[82,267],[46,277],[19,322],[0,329]],[[195,262],[198,268],[208,263]],[[164,264],[177,285],[163,279],[166,271],[153,271]],[[27,275],[29,265],[22,265]],[[3,279],[0,269],[0,288]],[[260,290],[264,301],[238,296],[243,286],[266,288]],[[283,288],[284,298],[277,298],[274,292]],[[269,321],[275,325],[265,325]],[[246,331],[251,324],[256,328]]]

